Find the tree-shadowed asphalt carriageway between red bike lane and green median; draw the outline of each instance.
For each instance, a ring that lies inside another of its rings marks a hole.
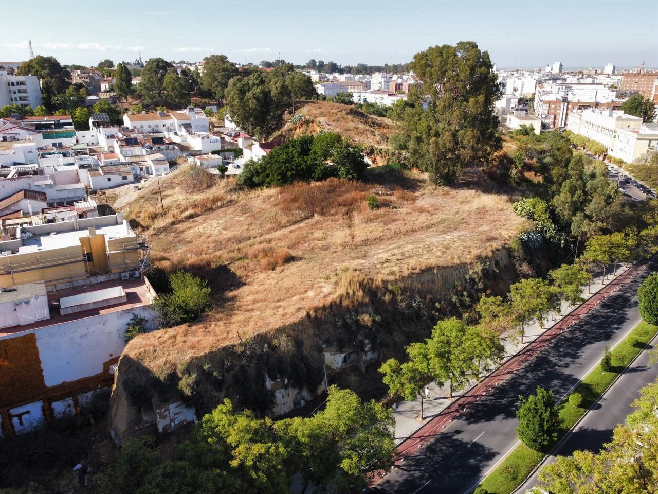
[[[407,441],[413,451],[407,448],[403,460],[372,490],[468,493],[517,444],[515,404],[519,395],[534,393],[538,385],[552,389],[558,399],[567,395],[597,364],[605,345],[617,344],[640,321],[636,292],[652,271],[634,269],[630,281],[600,303],[594,302],[594,308],[578,322],[539,346],[524,366],[513,366],[484,391],[472,391],[478,397],[455,414],[452,422],[431,434],[421,429],[424,441]]]

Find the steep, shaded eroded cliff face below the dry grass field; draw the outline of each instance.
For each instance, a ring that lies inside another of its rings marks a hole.
[[[257,414],[282,416],[321,394],[346,369],[365,372],[403,356],[404,347],[427,337],[437,319],[467,314],[480,294],[503,294],[515,279],[507,248],[476,263],[423,269],[393,282],[352,273],[342,297],[299,321],[218,345],[178,360],[175,367],[154,368],[149,362],[157,359],[143,353],[143,342],[141,352],[128,345],[111,397],[111,433],[123,439],[171,430],[224,398]],[[166,352],[156,334],[166,331],[139,338],[153,339],[149,352]]]

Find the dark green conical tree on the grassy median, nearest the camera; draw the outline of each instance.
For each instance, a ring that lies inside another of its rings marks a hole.
[[[536,395],[519,397],[517,436],[530,449],[541,451],[557,439],[560,416],[553,391],[538,386]]]

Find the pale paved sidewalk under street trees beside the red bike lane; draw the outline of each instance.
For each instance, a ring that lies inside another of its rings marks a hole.
[[[624,275],[630,266],[628,265],[618,265],[617,273],[612,275],[608,273],[605,278],[605,284],[601,281],[601,276],[595,277],[592,281],[592,285],[589,288],[583,290],[583,298],[586,300],[582,302],[579,306],[567,306],[567,302],[562,302],[560,308],[561,316],[557,314],[549,314],[548,319],[544,321],[546,327],[544,329],[540,328],[538,323],[526,324],[526,334],[523,338],[523,344],[520,343],[518,336],[515,336],[514,333],[507,333],[503,335],[503,343],[505,345],[505,357],[503,362],[498,367],[498,369],[503,368],[510,360],[517,358],[519,360],[525,361],[526,359],[521,358],[520,354],[524,353],[521,350],[528,348],[528,344],[537,341],[538,338],[542,335],[547,335],[547,333],[555,333],[555,331],[561,332],[563,328],[569,327],[575,323],[582,314],[588,312],[600,300],[597,300],[599,293],[613,292],[619,288],[613,288],[610,285],[613,285],[614,282],[619,279],[620,276]],[[612,270],[612,267],[609,268]],[[609,290],[603,290],[603,288],[609,287]],[[593,302],[593,303],[591,303]],[[492,372],[494,369],[489,369],[487,374]],[[480,380],[485,379],[486,375],[482,375]],[[481,383],[481,381],[480,381]],[[467,386],[464,390],[459,390],[453,392],[453,400],[446,398],[448,394],[448,386],[444,385],[443,387],[438,387],[435,382],[429,383],[428,387],[430,388],[430,399],[425,400],[424,403],[424,420],[422,424],[417,420],[417,417],[420,415],[420,400],[414,401],[402,401],[397,402],[393,406],[393,413],[395,415],[395,443],[400,445],[403,441],[407,439],[412,439],[420,428],[426,427],[426,425],[432,422],[433,418],[442,415],[442,412],[451,404],[455,403],[458,398],[467,395],[468,391],[472,389],[475,385],[478,384],[478,381],[475,379]]]

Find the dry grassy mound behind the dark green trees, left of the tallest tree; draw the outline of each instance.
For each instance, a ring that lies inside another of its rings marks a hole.
[[[295,138],[330,130],[366,146],[388,148],[388,138],[395,130],[395,123],[389,119],[373,117],[354,107],[327,101],[309,101],[296,115],[302,115],[303,119],[299,123],[286,124],[279,134]]]

